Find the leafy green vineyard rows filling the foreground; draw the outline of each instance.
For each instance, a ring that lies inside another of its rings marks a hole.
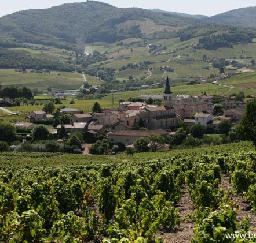
[[[253,150],[0,167],[1,242],[255,242],[226,236],[256,230]],[[185,195],[192,211],[184,218]],[[238,197],[249,208],[243,217]],[[191,235],[175,238],[186,222]]]

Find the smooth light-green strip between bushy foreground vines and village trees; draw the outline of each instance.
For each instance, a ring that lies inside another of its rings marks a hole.
[[[64,166],[64,165],[87,165],[93,163],[109,162],[142,162],[154,159],[167,159],[177,156],[193,156],[203,154],[216,154],[223,152],[251,151],[254,149],[250,142],[240,142],[232,144],[213,145],[199,148],[189,148],[184,150],[171,150],[168,152],[147,152],[134,154],[133,157],[126,154],[118,155],[75,155],[75,154],[50,154],[37,152],[4,152],[0,154],[0,163],[12,164],[13,166]]]

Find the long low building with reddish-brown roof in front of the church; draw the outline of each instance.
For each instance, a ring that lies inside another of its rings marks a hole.
[[[149,134],[155,133],[163,137],[167,137],[170,132],[165,130],[152,130],[152,131],[140,131],[140,130],[118,130],[108,133],[109,143],[116,144],[122,143],[125,145],[133,144],[134,141],[140,139],[140,137],[148,137]]]

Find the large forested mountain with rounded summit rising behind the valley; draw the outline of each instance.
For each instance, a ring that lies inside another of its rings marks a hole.
[[[0,18],[0,33],[21,42],[70,46],[95,41],[115,42],[134,37],[134,28],[118,29],[127,20],[152,20],[156,25],[184,27],[200,21],[140,8],[115,8],[101,2],[87,1],[50,9],[25,10]],[[157,29],[156,29],[157,32]],[[136,36],[140,35],[137,29]],[[144,36],[147,37],[147,36]]]

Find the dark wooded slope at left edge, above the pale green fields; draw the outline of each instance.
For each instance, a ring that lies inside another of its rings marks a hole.
[[[74,68],[58,61],[39,59],[19,51],[0,48],[0,68],[49,69],[72,72]]]

